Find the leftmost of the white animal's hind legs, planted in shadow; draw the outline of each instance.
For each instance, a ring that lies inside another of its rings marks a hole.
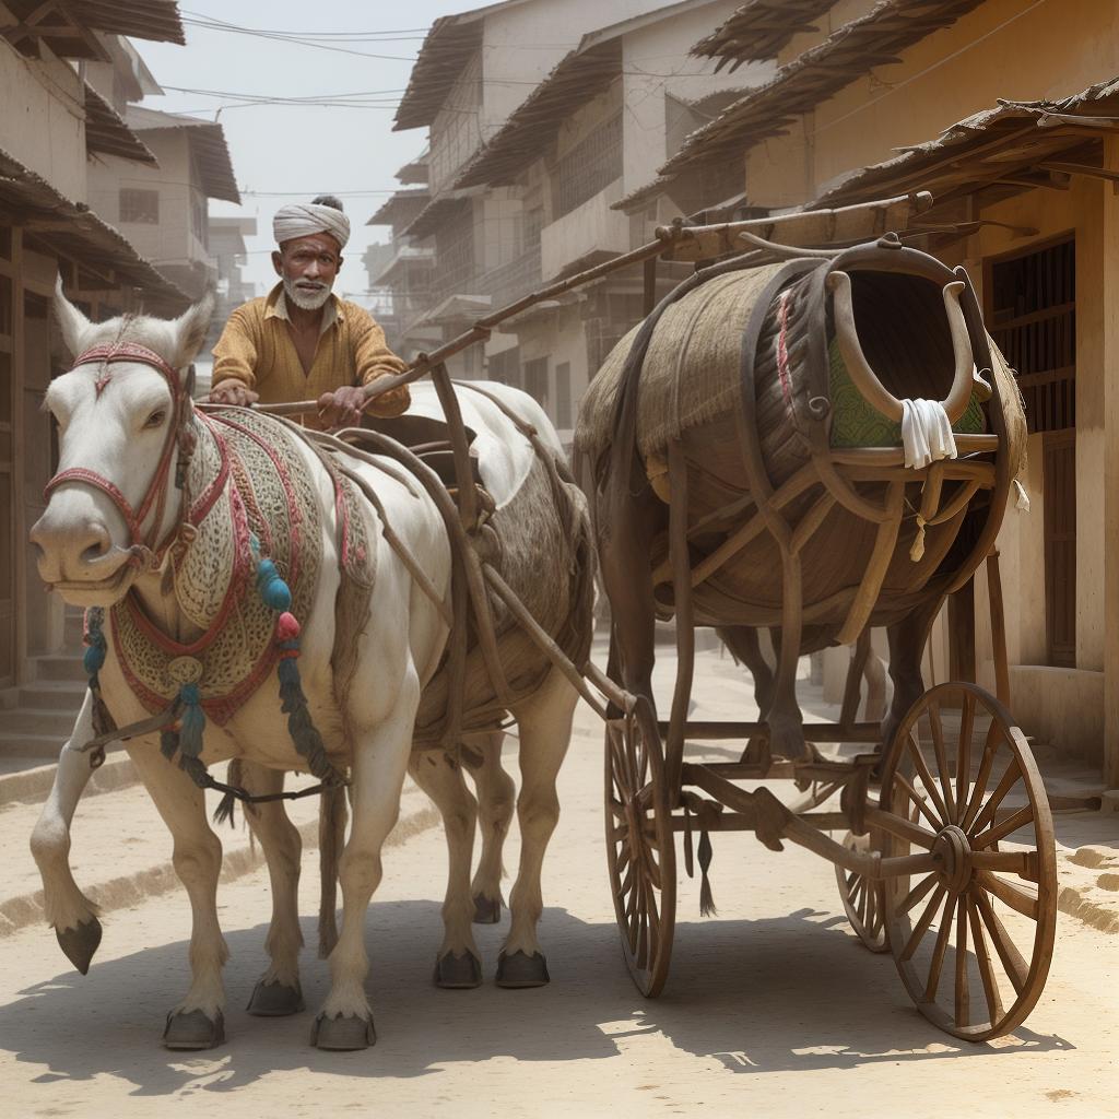
[[[467,788],[462,769],[445,754],[414,754],[408,772],[443,817],[446,836],[446,896],[443,901],[443,943],[435,958],[435,986],[448,989],[478,987],[481,956],[470,927],[474,915],[470,897],[470,858],[474,849],[478,806]]]

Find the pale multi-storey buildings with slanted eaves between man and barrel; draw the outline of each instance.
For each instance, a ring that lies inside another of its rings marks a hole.
[[[733,0],[521,0],[436,22],[397,116],[397,128],[430,128],[429,200],[395,231],[431,252],[425,327],[454,337],[683,213],[615,207],[731,91],[772,69],[715,75],[688,56],[734,9]],[[732,171],[725,178],[737,184]],[[402,191],[394,205],[405,201]],[[623,275],[525,312],[452,372],[526,388],[570,435],[582,391],[641,311],[641,276]]]

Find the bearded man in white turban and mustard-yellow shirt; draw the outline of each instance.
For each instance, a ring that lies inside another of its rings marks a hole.
[[[284,206],[272,223],[272,266],[280,283],[229,316],[214,347],[209,398],[216,404],[282,404],[317,399],[313,427],[360,422],[363,386],[401,373],[402,361],[363,307],[331,293],[349,241],[349,218],[330,195]],[[389,389],[368,411],[394,416],[407,408],[407,386]]]

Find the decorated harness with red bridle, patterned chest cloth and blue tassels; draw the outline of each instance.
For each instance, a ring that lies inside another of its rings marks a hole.
[[[64,483],[105,493],[128,525],[129,563],[164,571],[164,586],[173,589],[184,617],[201,633],[188,642],[168,636],[131,591],[107,611],[86,611],[84,667],[94,700],[95,737],[74,749],[88,751],[96,768],[109,743],[159,731],[169,761],[178,759],[200,788],[225,794],[220,816],[232,814],[235,799],[293,799],[344,784],[308,711],[298,666],[298,619],[309,613],[318,584],[322,526],[294,436],[246,410],[196,412],[192,374],[180,379],[144,346],[97,346],[82,354],[75,367],[94,361],[103,364],[98,386],[109,383],[109,366],[120,361],[150,366],[167,382],[172,413],[156,471],[134,508],[119,487],[87,468],[59,471],[46,495]],[[196,424],[208,439],[198,439]],[[173,485],[181,492],[179,514],[160,536],[172,461]],[[350,596],[355,585],[359,594],[363,589],[367,593],[372,574],[365,521],[348,480],[326,464],[335,485],[344,584]],[[192,481],[197,493],[191,492]],[[225,593],[217,598],[213,589],[222,585]],[[152,714],[125,727],[115,725],[101,694],[106,621],[124,678]],[[209,774],[201,760],[203,735],[207,720],[224,725],[273,668],[292,742],[321,783],[298,792],[252,796]]]

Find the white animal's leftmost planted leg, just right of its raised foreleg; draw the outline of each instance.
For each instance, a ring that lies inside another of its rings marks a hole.
[[[206,798],[186,773],[163,758],[154,741],[128,747],[149,796],[171,833],[171,862],[190,899],[191,984],[167,1017],[163,1044],[173,1050],[213,1049],[225,1041],[222,968],[229,958],[217,921],[222,843],[206,819]]]

